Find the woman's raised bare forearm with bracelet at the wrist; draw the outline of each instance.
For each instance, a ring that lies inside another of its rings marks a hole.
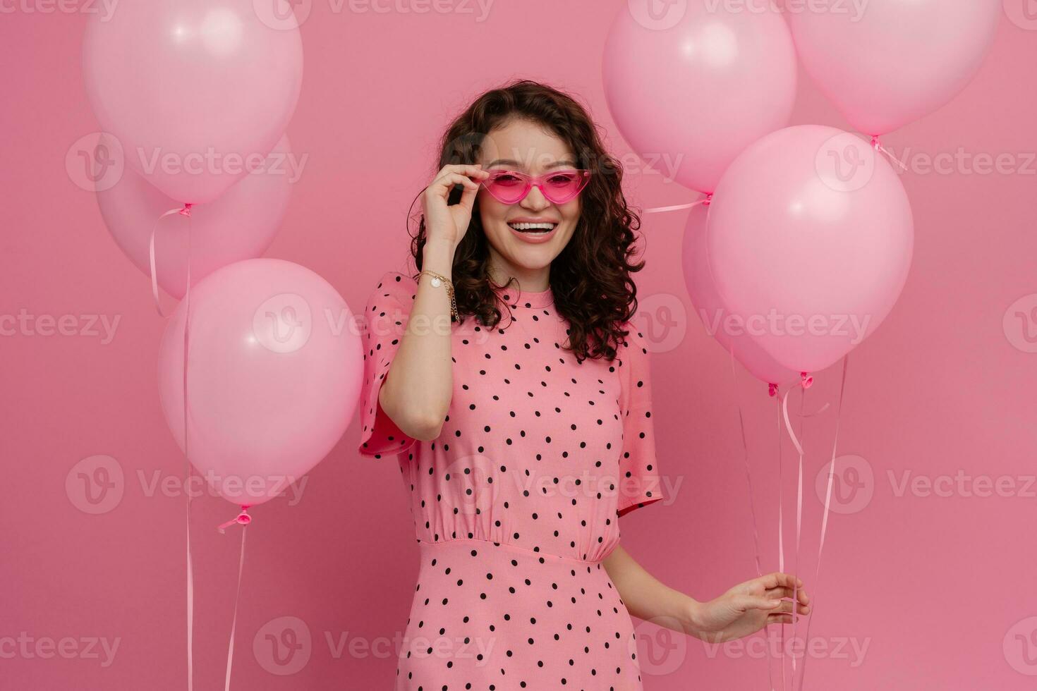
[[[423,249],[422,268],[452,280],[453,254],[449,242],[429,240]],[[393,423],[423,441],[440,435],[453,391],[450,298],[445,286],[431,285],[431,278],[427,273],[418,277],[407,329],[379,392],[379,403]]]

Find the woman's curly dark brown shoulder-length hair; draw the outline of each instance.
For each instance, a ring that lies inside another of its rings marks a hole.
[[[486,91],[447,128],[436,170],[447,165],[474,165],[486,134],[512,118],[545,126],[568,144],[579,168],[593,171],[581,193],[580,221],[565,249],[552,262],[549,280],[555,309],[569,323],[564,347],[576,353],[578,363],[587,357],[612,361],[628,334],[623,324],[637,312],[637,286],[630,275],[644,267],[643,260],[632,261],[636,254],[634,231],[640,228],[641,220],[623,198],[619,162],[606,151],[583,106],[568,94],[532,80],[515,80]],[[456,204],[463,190],[455,186],[447,203]],[[419,213],[418,220],[411,254],[420,271],[426,238],[424,217]],[[488,265],[488,242],[476,200],[451,268],[461,322],[473,316],[494,327],[503,316],[498,303],[508,308],[495,291],[506,286],[492,283]]]

